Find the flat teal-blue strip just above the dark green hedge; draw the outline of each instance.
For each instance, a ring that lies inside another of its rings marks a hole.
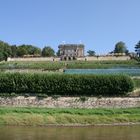
[[[115,68],[115,69],[66,69],[67,74],[128,74],[140,76],[138,68]]]

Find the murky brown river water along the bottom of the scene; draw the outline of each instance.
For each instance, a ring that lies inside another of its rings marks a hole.
[[[0,127],[0,140],[140,140],[140,126]]]

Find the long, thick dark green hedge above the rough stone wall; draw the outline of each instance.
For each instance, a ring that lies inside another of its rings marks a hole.
[[[0,73],[0,93],[47,95],[123,95],[132,91],[125,75],[66,75]]]

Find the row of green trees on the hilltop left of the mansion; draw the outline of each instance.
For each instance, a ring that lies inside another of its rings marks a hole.
[[[50,46],[45,46],[42,50],[33,45],[9,45],[6,42],[0,41],[0,61],[7,60],[8,57],[23,57],[23,56],[55,56],[55,51]]]

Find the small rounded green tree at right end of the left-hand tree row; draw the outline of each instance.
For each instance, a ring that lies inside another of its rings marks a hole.
[[[42,56],[43,57],[50,57],[54,56],[55,52],[50,46],[45,46],[42,50]]]

